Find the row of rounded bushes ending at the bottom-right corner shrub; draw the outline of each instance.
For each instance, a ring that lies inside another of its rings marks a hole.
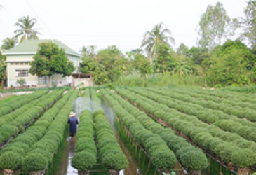
[[[209,153],[215,153],[222,161],[237,167],[250,167],[256,163],[255,142],[243,139],[236,133],[224,132],[215,125],[201,122],[195,116],[180,113],[168,106],[145,98],[130,90],[119,90],[124,97],[135,102],[157,118],[165,120],[173,129],[181,131],[195,144]]]

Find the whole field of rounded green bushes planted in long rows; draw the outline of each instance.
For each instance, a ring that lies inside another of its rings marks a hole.
[[[128,158],[114,137],[104,102],[139,161],[145,162],[142,154],[147,158],[152,171],[145,174],[170,173],[177,164],[189,174],[201,174],[209,167],[209,158],[224,166],[227,174],[254,172],[255,94],[184,87],[116,87],[97,92],[39,90],[2,102],[0,169],[47,173],[66,139],[70,111],[80,114],[72,167],[79,174],[93,174],[98,164],[105,172],[126,169]],[[78,97],[84,100],[75,106]]]

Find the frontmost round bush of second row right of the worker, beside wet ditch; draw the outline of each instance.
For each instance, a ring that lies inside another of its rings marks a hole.
[[[121,169],[126,169],[126,167],[129,165],[129,162],[126,159],[126,156],[123,155],[123,152],[111,152],[102,158],[102,164],[105,165],[107,169],[115,169],[119,171]]]

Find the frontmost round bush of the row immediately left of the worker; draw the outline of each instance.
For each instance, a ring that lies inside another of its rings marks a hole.
[[[40,171],[46,169],[48,166],[48,159],[36,153],[31,153],[23,159],[22,170],[25,172]]]

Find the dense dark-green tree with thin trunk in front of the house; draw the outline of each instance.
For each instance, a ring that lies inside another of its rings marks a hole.
[[[63,77],[70,76],[75,70],[73,62],[69,62],[65,50],[58,48],[58,45],[52,42],[39,43],[39,48],[34,61],[30,62],[29,73],[36,76],[48,76],[49,87],[52,85],[51,76],[62,74]]]

